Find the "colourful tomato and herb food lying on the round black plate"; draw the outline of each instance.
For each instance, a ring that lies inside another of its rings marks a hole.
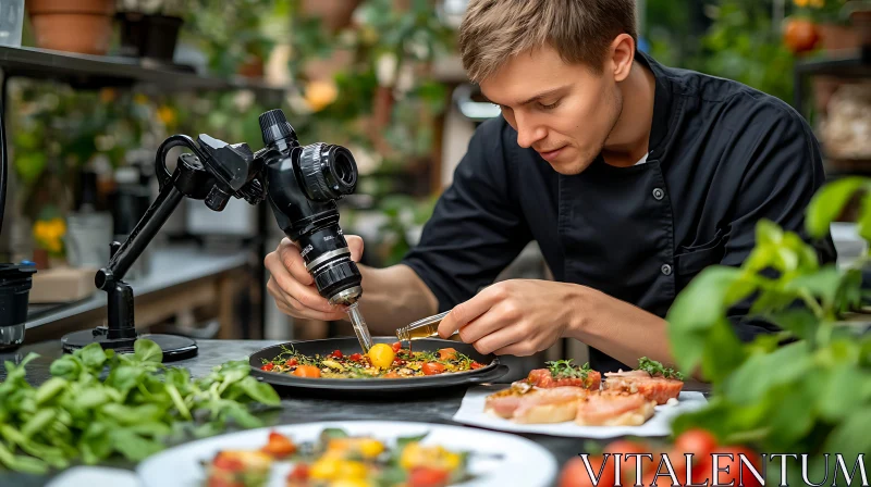
[[[375,344],[368,353],[345,354],[333,350],[327,355],[306,354],[293,345],[281,346],[281,353],[262,359],[260,370],[308,378],[409,378],[482,369],[470,357],[453,347],[436,350],[402,348],[402,344]]]

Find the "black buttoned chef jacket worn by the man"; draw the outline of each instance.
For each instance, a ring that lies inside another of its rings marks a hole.
[[[440,311],[491,284],[535,239],[556,280],[664,317],[702,269],[741,264],[760,218],[802,232],[806,205],[824,180],[803,118],[736,82],[668,68],[640,52],[636,59],[657,80],[645,164],[615,167],[599,157],[565,176],[520,148],[504,118],[478,127],[404,259]],[[812,244],[822,261],[834,261],[831,237]],[[743,320],[748,304],[731,311],[741,339],[776,329]],[[592,348],[590,365],[629,369]]]

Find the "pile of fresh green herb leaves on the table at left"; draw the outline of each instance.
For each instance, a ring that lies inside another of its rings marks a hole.
[[[45,474],[50,467],[95,464],[121,454],[138,462],[176,436],[219,433],[228,422],[262,426],[249,404],[278,405],[272,387],[249,375],[247,361],[226,362],[200,379],[163,365],[163,352],[139,339],[134,353],[91,344],[51,363],[38,388],[25,367],[5,363],[0,383],[0,465]]]

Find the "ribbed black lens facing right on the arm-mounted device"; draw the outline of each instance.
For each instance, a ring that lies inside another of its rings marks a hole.
[[[315,201],[351,195],[357,186],[357,163],[342,146],[311,143],[299,154],[304,189]]]

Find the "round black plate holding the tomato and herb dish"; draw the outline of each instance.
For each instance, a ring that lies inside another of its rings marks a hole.
[[[394,344],[395,337],[372,337],[376,344]],[[327,338],[322,340],[308,340],[284,344],[284,347],[293,347],[297,352],[305,355],[320,354],[321,357],[341,350],[344,354],[360,353],[360,345],[355,337],[347,338]],[[440,348],[452,347],[478,363],[484,364],[483,367],[474,371],[455,372],[450,374],[427,375],[422,377],[408,378],[309,378],[297,377],[291,374],[266,372],[260,370],[263,359],[271,361],[281,354],[282,345],[275,345],[258,350],[248,358],[252,366],[252,375],[259,377],[273,386],[291,387],[294,389],[306,389],[310,392],[355,392],[354,397],[378,395],[391,392],[422,392],[432,389],[446,387],[471,386],[476,384],[493,382],[508,372],[507,365],[499,363],[499,359],[493,355],[478,353],[468,344],[453,340],[442,340],[439,338],[427,338],[415,340],[415,351],[434,351]]]

